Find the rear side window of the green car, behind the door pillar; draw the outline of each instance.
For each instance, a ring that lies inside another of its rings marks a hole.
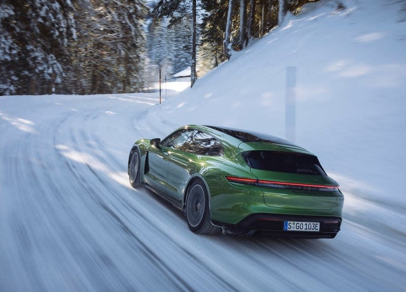
[[[185,151],[199,155],[220,156],[223,154],[223,147],[220,141],[213,136],[203,132],[197,132],[186,146]]]

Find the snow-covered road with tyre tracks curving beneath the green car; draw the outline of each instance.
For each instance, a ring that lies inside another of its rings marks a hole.
[[[404,221],[379,219],[404,219],[396,206],[344,188],[335,239],[200,236],[132,189],[132,143],[167,134],[146,115],[156,102],[0,97],[0,291],[404,291]]]

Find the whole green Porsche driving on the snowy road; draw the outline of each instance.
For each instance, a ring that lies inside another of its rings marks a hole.
[[[183,126],[162,141],[134,143],[128,175],[133,187],[145,185],[182,210],[195,233],[334,238],[340,231],[339,185],[314,154],[274,136]]]

